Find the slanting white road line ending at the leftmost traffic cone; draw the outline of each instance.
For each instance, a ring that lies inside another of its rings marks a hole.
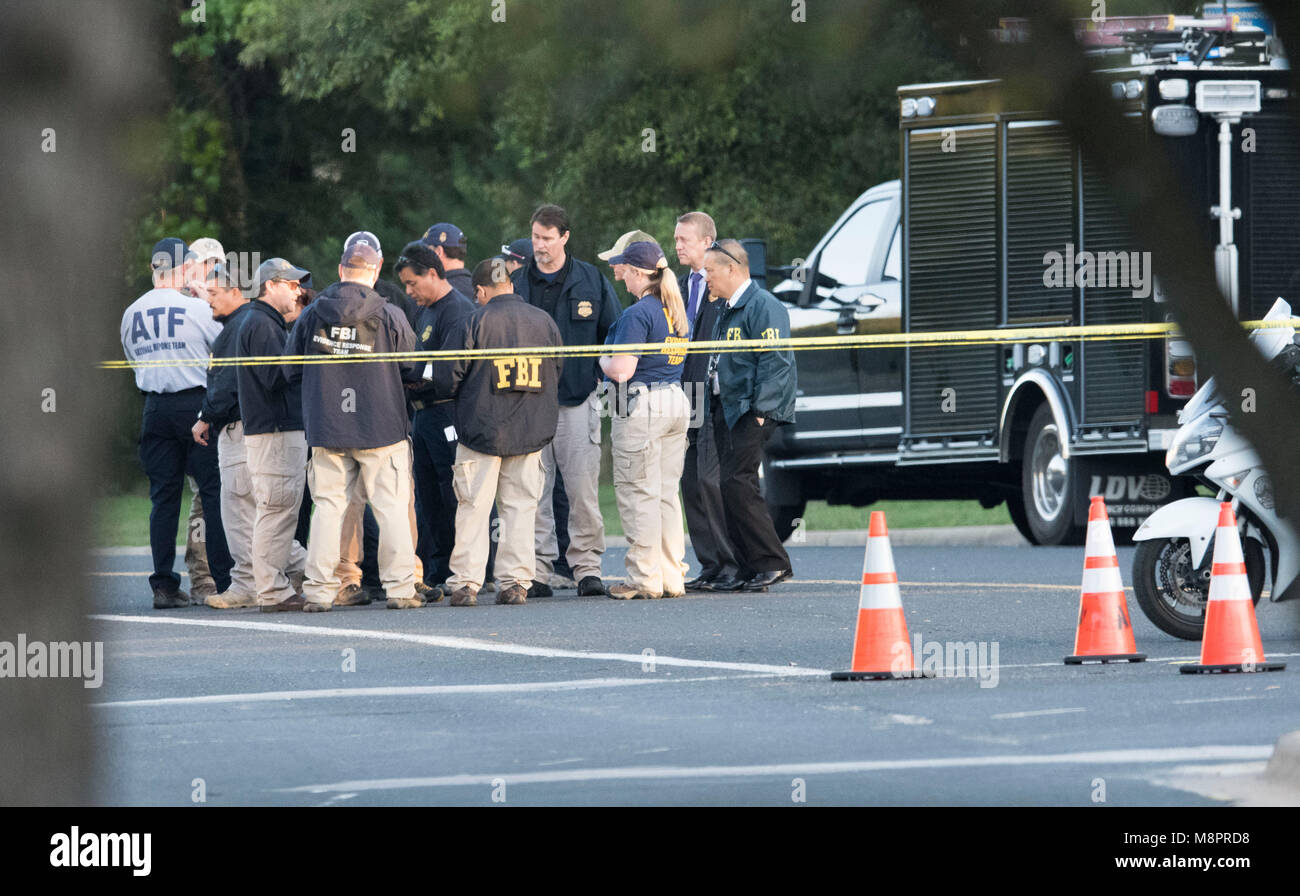
[[[324,626],[298,626],[294,623],[252,622],[251,619],[178,619],[172,616],[117,616],[91,614],[91,619],[103,622],[140,623],[144,626],[198,626],[200,628],[230,628],[248,632],[280,632],[282,635],[312,635],[333,639],[370,639],[374,641],[403,641],[421,644],[429,648],[450,650],[481,650],[484,653],[504,653],[516,657],[546,657],[549,659],[593,659],[597,662],[650,663],[676,666],[682,668],[718,668],[731,672],[762,672],[786,678],[816,678],[831,674],[828,668],[803,668],[800,666],[770,666],[766,663],[728,663],[710,659],[685,659],[682,657],[645,655],[640,653],[586,653],[584,650],[559,650],[555,648],[534,648],[526,644],[508,641],[480,641],[472,637],[450,635],[415,635],[408,632],[377,632],[368,628],[326,628]]]

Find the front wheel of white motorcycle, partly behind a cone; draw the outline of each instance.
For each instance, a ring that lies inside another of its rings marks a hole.
[[[1254,538],[1242,541],[1251,600],[1260,602],[1264,590],[1264,547]],[[1156,628],[1186,641],[1200,641],[1209,600],[1209,564],[1192,566],[1187,538],[1139,541],[1134,557],[1134,596]]]

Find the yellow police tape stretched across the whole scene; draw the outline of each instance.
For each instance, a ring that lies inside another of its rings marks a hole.
[[[1242,321],[1247,330],[1300,329],[1300,317],[1287,320]],[[826,349],[901,349],[918,346],[992,346],[1027,342],[1126,342],[1158,339],[1179,336],[1174,324],[1117,324],[1093,326],[1020,326],[997,330],[948,330],[939,333],[868,333],[862,336],[805,336],[784,339],[715,339],[664,345],[662,342],[599,345],[599,346],[519,346],[514,349],[468,349],[452,351],[391,351],[368,355],[261,355],[256,358],[169,359],[169,360],[114,360],[101,362],[105,371],[134,369],[136,367],[251,367],[259,364],[350,364],[372,362],[437,362],[474,360],[486,358],[514,358],[517,355],[542,358],[597,358],[599,355],[680,355],[720,354],[731,351],[819,351]]]

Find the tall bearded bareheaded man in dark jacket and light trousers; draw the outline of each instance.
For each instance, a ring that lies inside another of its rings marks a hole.
[[[533,212],[533,257],[512,274],[514,289],[525,302],[549,313],[567,346],[602,345],[619,317],[619,300],[595,267],[566,252],[568,215],[559,205]],[[595,388],[601,369],[594,358],[566,358],[560,375],[559,425],[555,440],[542,449],[546,488],[537,510],[538,585],[554,572],[558,554],[551,490],[555,471],[564,479],[569,501],[568,562],[581,596],[603,594],[601,555],[604,520],[601,516],[601,406]]]

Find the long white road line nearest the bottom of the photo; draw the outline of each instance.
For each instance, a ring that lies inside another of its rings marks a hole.
[[[1022,767],[1048,765],[1149,765],[1167,762],[1218,762],[1266,759],[1273,746],[1174,746],[1165,749],[1092,750],[1028,756],[957,756],[935,759],[872,759],[858,762],[786,762],[750,766],[628,766],[621,769],[571,769],[555,771],[500,771],[441,778],[376,778],[303,787],[281,788],[280,793],[350,793],[361,791],[404,791],[433,787],[490,787],[503,778],[508,784],[572,784],[602,780],[681,780],[690,778],[762,778],[798,775],[844,775],[871,771],[923,769]]]

